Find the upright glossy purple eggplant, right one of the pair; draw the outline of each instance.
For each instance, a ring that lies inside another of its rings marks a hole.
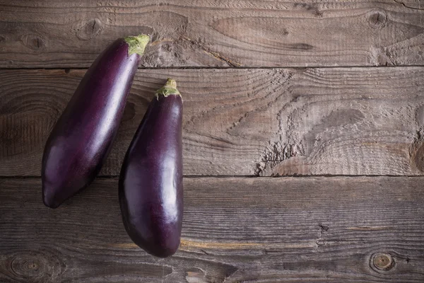
[[[173,255],[182,228],[182,98],[168,79],[126,151],[119,204],[126,233],[159,258]]]

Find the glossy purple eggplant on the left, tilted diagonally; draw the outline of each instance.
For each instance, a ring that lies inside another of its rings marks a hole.
[[[45,145],[42,200],[47,207],[59,207],[99,173],[149,41],[148,35],[115,40],[83,76]]]

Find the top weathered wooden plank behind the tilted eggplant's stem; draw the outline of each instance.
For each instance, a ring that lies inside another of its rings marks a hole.
[[[0,0],[0,15],[0,67],[88,67],[138,33],[146,67],[424,63],[419,0]]]

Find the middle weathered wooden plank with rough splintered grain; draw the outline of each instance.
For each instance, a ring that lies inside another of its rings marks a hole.
[[[0,71],[0,175],[40,175],[83,74]],[[103,175],[119,174],[167,76],[184,99],[185,175],[423,174],[424,68],[396,67],[139,70]]]

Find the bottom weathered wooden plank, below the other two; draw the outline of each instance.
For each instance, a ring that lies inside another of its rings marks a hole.
[[[116,179],[55,210],[39,179],[3,179],[0,281],[423,282],[423,182],[186,178],[182,246],[162,260],[126,235]]]

